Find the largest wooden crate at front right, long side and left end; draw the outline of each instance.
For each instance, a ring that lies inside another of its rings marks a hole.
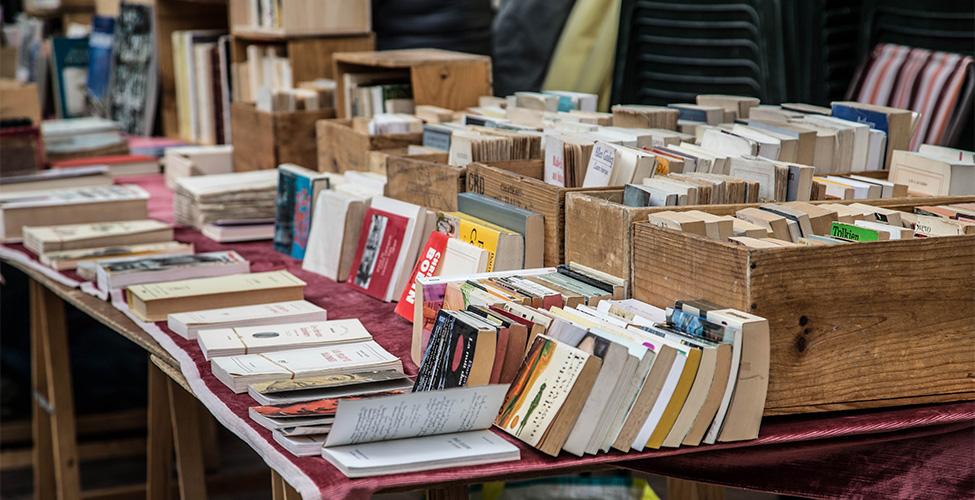
[[[632,290],[767,318],[766,415],[975,399],[975,235],[748,249],[638,222]]]

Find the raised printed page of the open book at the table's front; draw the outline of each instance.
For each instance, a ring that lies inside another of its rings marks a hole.
[[[507,391],[496,384],[342,400],[325,446],[487,429]]]

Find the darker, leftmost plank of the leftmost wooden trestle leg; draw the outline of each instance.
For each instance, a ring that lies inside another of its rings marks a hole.
[[[33,462],[34,462],[34,497],[54,498],[54,450],[51,442],[51,416],[47,406],[47,357],[45,343],[41,338],[45,335],[43,326],[44,293],[41,286],[30,281],[30,351],[31,351],[31,389],[34,397],[31,403],[33,416]]]

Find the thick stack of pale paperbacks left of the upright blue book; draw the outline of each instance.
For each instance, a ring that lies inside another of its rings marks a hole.
[[[275,170],[178,179],[173,201],[176,222],[203,230],[227,226],[226,233],[253,229],[248,226],[273,231],[277,179]]]

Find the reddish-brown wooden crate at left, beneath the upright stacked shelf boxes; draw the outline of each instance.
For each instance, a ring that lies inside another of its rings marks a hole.
[[[234,170],[276,168],[282,163],[314,167],[315,122],[335,116],[335,110],[268,113],[254,105],[233,103],[230,108],[234,144]]]

